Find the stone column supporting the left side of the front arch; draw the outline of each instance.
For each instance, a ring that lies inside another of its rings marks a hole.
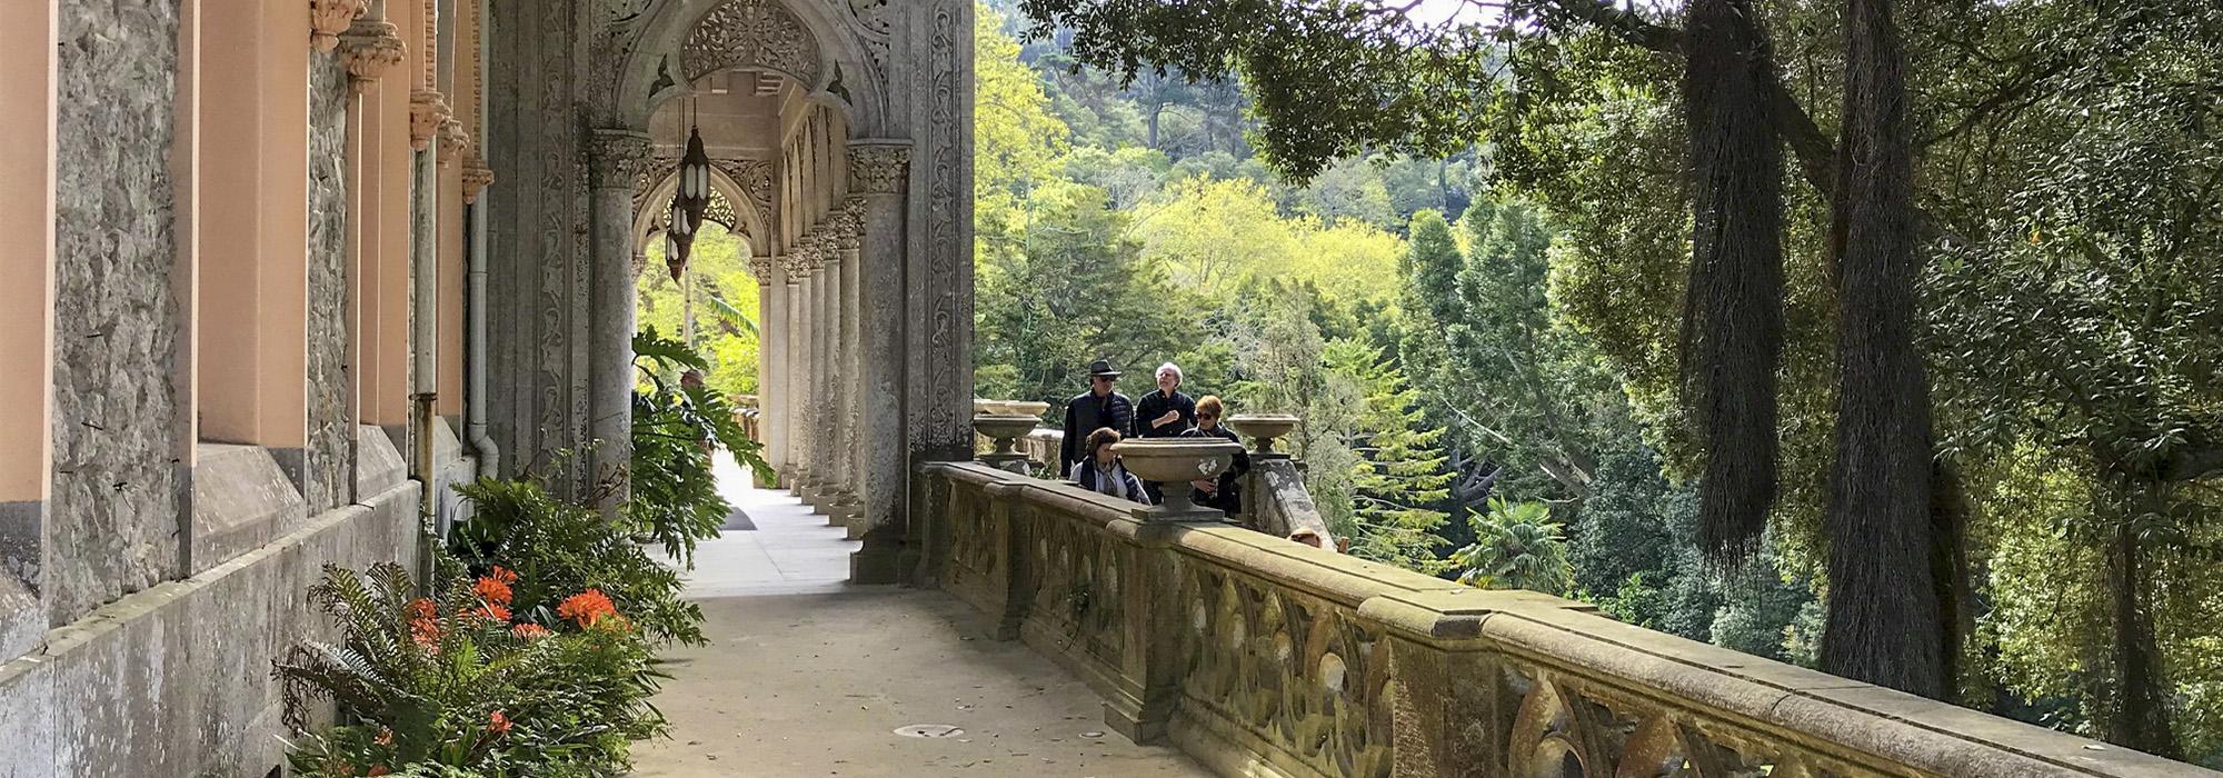
[[[585,422],[596,445],[587,485],[602,496],[596,507],[616,513],[625,507],[634,462],[634,180],[647,169],[651,149],[642,131],[598,129],[591,151]]]

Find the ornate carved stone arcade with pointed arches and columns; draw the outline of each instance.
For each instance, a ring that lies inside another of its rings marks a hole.
[[[916,469],[971,451],[971,0],[582,7],[489,24],[494,167],[534,182],[496,187],[487,227],[505,471],[625,480],[634,282],[700,124],[758,282],[778,482],[863,540],[854,580],[905,578]]]

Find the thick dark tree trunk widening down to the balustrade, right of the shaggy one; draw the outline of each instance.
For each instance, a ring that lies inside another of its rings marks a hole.
[[[1825,671],[1943,698],[1945,629],[1930,509],[1930,380],[1914,345],[1914,160],[1892,0],[1847,0],[1838,256],[1836,469]]]

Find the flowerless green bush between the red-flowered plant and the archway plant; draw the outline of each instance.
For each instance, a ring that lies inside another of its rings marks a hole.
[[[680,576],[649,558],[625,525],[556,500],[531,480],[480,478],[456,487],[476,513],[449,531],[449,551],[473,573],[520,576],[520,620],[556,627],[562,598],[598,589],[651,640],[702,645],[702,607],[680,600]]]

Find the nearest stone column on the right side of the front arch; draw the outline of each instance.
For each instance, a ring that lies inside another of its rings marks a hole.
[[[905,320],[903,233],[911,147],[907,142],[856,142],[849,147],[849,191],[863,200],[858,251],[858,436],[865,458],[854,531],[865,547],[849,558],[849,580],[898,582],[903,558],[905,500]]]

